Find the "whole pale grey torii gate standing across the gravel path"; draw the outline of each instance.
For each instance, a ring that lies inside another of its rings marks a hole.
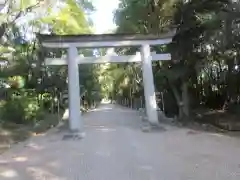
[[[43,47],[66,48],[66,58],[46,58],[46,65],[68,65],[69,121],[70,130],[83,132],[80,112],[80,88],[78,64],[111,63],[111,62],[142,62],[144,96],[147,117],[151,124],[158,124],[157,103],[155,96],[152,60],[170,60],[170,54],[151,53],[150,45],[162,45],[172,42],[175,30],[155,35],[140,34],[103,34],[103,35],[44,35],[38,37]],[[83,57],[78,55],[77,48],[101,48],[140,46],[141,52],[130,56]]]

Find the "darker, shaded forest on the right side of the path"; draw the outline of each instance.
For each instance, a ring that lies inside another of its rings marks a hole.
[[[231,0],[120,1],[115,12],[116,33],[160,34],[176,28],[170,45],[152,47],[172,55],[172,61],[153,63],[158,105],[167,116],[191,120],[200,112],[211,111],[237,120],[239,5]],[[132,52],[136,49],[119,49],[122,54]],[[125,64],[121,68],[112,65],[106,72],[114,84],[111,93],[132,102],[143,96],[141,66]]]

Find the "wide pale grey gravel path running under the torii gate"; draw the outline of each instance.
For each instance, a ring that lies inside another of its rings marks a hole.
[[[50,131],[0,156],[1,180],[239,180],[240,140],[164,125],[144,133],[137,112],[102,105],[86,137]]]

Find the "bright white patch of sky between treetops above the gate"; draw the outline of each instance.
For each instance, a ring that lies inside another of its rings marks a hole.
[[[118,0],[93,0],[96,12],[92,15],[95,33],[102,34],[116,27],[113,22],[113,11],[118,7]]]

